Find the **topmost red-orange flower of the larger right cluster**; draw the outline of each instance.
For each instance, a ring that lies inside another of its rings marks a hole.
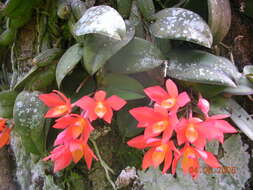
[[[166,90],[167,92],[160,86],[152,86],[144,89],[144,92],[156,104],[159,104],[169,111],[176,112],[178,108],[190,102],[190,98],[186,92],[178,94],[176,84],[170,79],[166,81]]]

